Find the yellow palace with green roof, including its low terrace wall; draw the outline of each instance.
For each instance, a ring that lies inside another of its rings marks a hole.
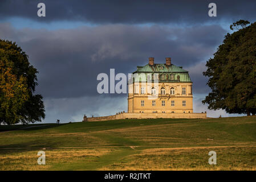
[[[165,64],[149,63],[137,70],[128,79],[128,112],[115,115],[90,117],[83,121],[109,121],[115,119],[154,118],[207,118],[206,111],[193,112],[192,81],[188,71],[173,65],[170,57]]]

